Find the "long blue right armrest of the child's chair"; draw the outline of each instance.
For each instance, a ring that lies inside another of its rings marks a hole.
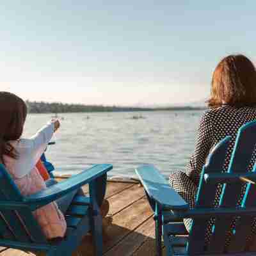
[[[92,166],[92,168],[84,170],[67,180],[54,184],[33,195],[26,196],[24,198],[24,203],[29,205],[30,209],[34,211],[35,209],[49,204],[63,195],[67,195],[70,191],[92,182],[92,180],[106,174],[112,168],[113,166],[111,164],[96,164]]]

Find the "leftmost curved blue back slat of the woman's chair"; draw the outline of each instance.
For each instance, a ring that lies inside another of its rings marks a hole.
[[[196,208],[212,207],[216,194],[216,184],[206,184],[204,179],[205,173],[220,172],[223,168],[225,156],[230,143],[230,137],[220,141],[218,145],[212,150],[209,161],[205,164],[201,174],[198,193],[196,196]],[[189,232],[189,246],[188,253],[191,255],[203,253],[205,248],[205,230],[210,218],[195,218],[191,230]]]

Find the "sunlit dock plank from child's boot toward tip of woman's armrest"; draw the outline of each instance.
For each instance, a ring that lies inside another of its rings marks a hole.
[[[132,186],[131,188],[125,189],[124,191],[111,196],[111,198],[109,198],[109,204],[111,205],[109,214],[115,215],[143,196],[145,196],[145,191],[143,187],[139,185]]]

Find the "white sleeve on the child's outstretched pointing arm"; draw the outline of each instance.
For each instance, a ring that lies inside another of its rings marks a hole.
[[[15,161],[17,178],[24,177],[35,167],[51,140],[53,132],[54,123],[49,122],[31,138],[19,140],[15,147],[19,154],[19,158]]]

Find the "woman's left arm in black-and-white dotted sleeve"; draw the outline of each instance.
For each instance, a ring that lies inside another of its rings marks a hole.
[[[209,111],[205,111],[201,117],[198,133],[196,136],[195,152],[186,166],[186,175],[198,186],[200,173],[209,155],[213,143],[212,124]]]

